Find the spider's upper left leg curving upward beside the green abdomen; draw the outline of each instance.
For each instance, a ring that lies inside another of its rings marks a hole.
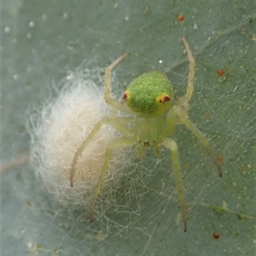
[[[122,61],[125,59],[126,56],[128,56],[129,53],[126,53],[125,55],[121,55],[118,59],[113,61],[105,70],[105,91],[104,91],[104,97],[105,102],[110,105],[111,107],[118,109],[119,111],[125,112],[125,113],[131,113],[131,110],[127,108],[125,104],[122,102],[118,102],[110,97],[111,93],[111,72],[113,70],[113,67],[115,67],[119,61]],[[114,113],[113,113],[114,115]]]

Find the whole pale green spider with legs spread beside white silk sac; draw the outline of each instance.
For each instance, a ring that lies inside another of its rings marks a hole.
[[[119,63],[119,61],[123,60],[129,54],[121,55],[116,61],[113,61],[113,63],[106,68],[104,91],[105,101],[113,108],[114,111],[130,113],[131,116],[109,116],[98,121],[93,130],[90,132],[90,135],[85,139],[84,143],[81,144],[74,155],[70,172],[71,187],[73,187],[73,175],[77,160],[82,154],[84,148],[88,145],[88,143],[90,143],[90,140],[96,135],[102,125],[111,125],[125,136],[115,138],[111,143],[109,143],[108,148],[106,149],[105,161],[102,166],[99,180],[96,184],[90,209],[90,222],[92,222],[93,219],[96,199],[102,189],[103,179],[111,160],[113,148],[131,147],[132,145],[136,145],[138,155],[143,157],[143,147],[154,148],[155,153],[160,155],[160,145],[163,145],[166,148],[169,148],[172,152],[171,159],[177,185],[177,197],[183,216],[184,231],[187,231],[183,177],[182,172],[180,171],[177,143],[171,138],[174,131],[174,126],[176,124],[186,125],[187,128],[192,131],[200,143],[207,148],[218,168],[219,176],[222,176],[218,158],[213,153],[207,138],[188,118],[188,102],[193,95],[194,90],[195,59],[185,38],[182,38],[182,40],[189,57],[189,78],[187,91],[184,96],[178,98],[174,97],[172,84],[167,79],[166,75],[158,71],[152,71],[149,73],[144,73],[142,76],[131,82],[131,84],[127,87],[127,90],[125,90],[123,96],[126,104],[123,102],[118,102],[110,97],[111,71],[113,70],[113,67]],[[131,128],[128,128],[127,124],[131,124]]]

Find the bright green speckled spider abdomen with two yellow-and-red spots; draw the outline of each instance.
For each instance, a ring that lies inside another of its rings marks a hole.
[[[124,100],[134,113],[160,115],[172,106],[172,84],[164,73],[144,73],[128,85]]]

